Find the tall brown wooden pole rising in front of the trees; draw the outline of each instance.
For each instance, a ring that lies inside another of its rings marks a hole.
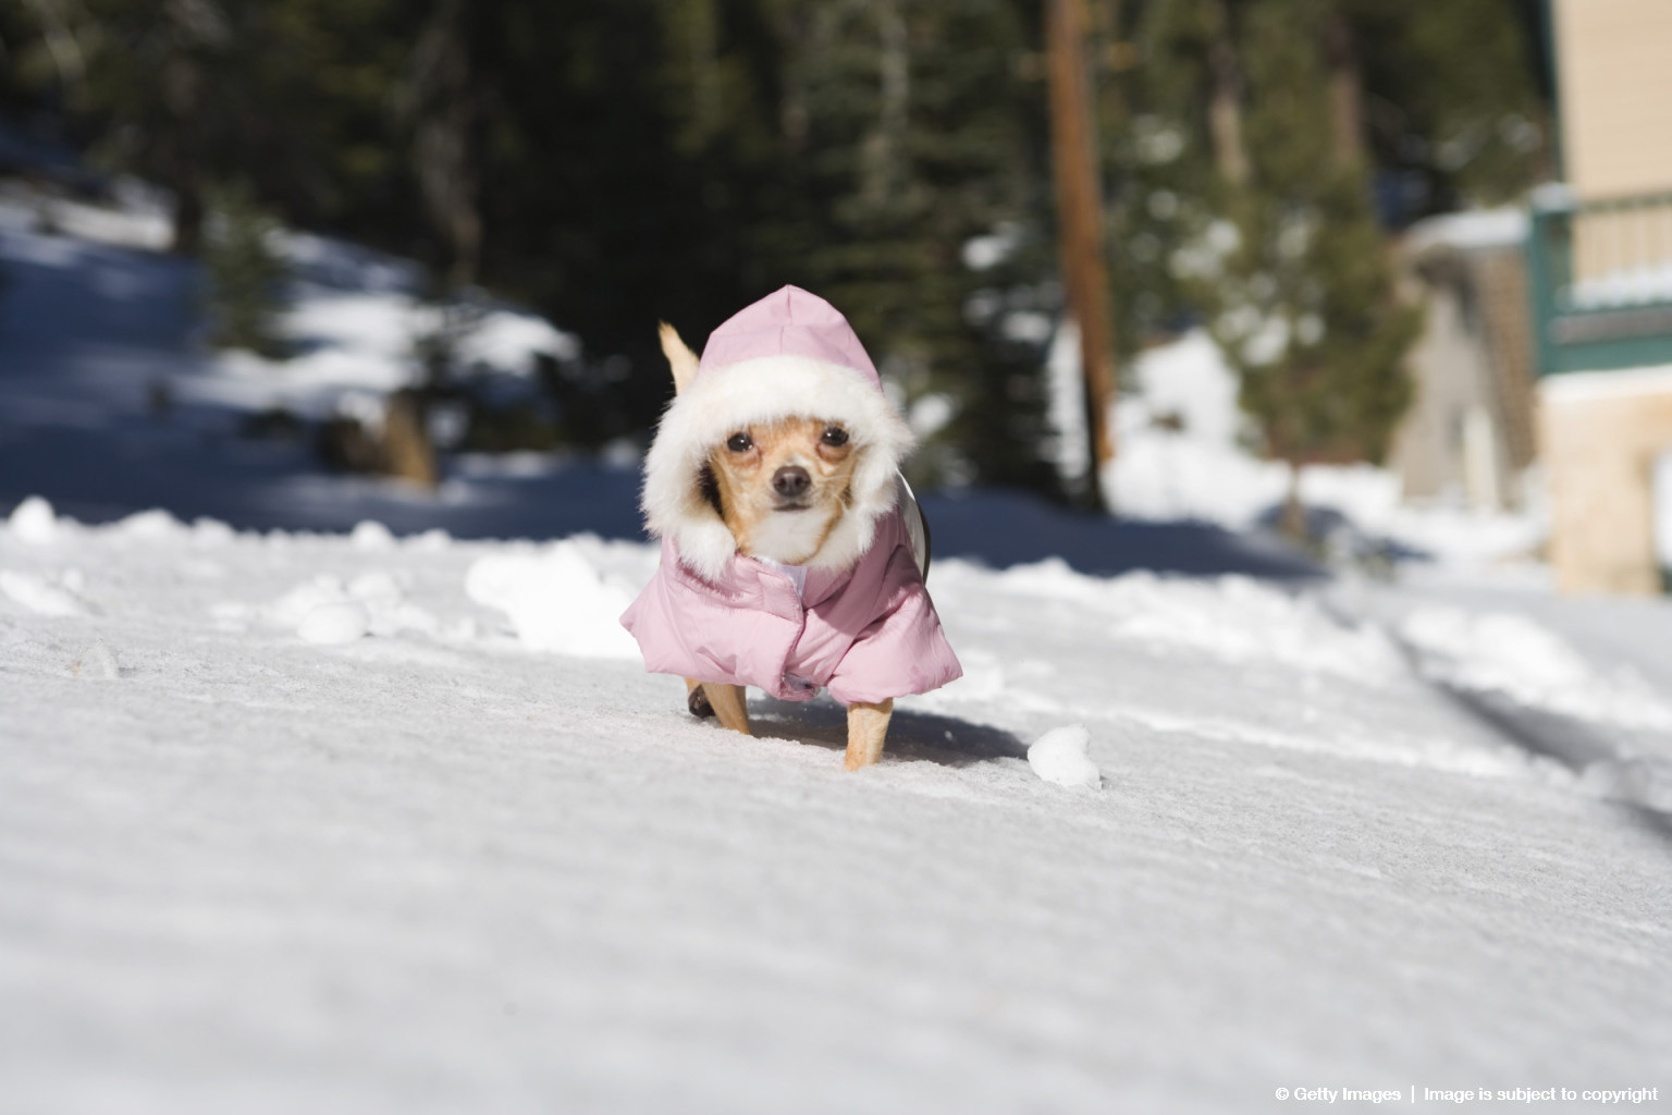
[[[1085,500],[1107,510],[1102,466],[1115,456],[1109,403],[1115,358],[1109,323],[1109,271],[1104,262],[1104,207],[1097,182],[1090,84],[1085,74],[1085,0],[1045,0],[1045,52],[1050,70],[1052,164],[1057,177],[1057,231],[1068,311],[1080,328],[1085,376],[1085,428],[1090,448]]]

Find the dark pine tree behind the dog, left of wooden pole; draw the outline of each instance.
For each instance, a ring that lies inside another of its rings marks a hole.
[[[1030,32],[1002,0],[801,0],[789,17],[791,181],[813,204],[786,229],[781,274],[848,313],[908,411],[926,400],[950,415],[926,431],[918,480],[1055,491],[1047,336],[1012,316],[1055,309],[1037,304],[1053,274],[1040,251],[1048,182],[1027,142],[1038,89],[1015,69]],[[966,267],[965,244],[1000,226],[1012,254]]]

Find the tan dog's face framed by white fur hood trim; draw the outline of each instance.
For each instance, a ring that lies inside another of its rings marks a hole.
[[[848,510],[856,460],[848,430],[819,418],[732,431],[709,453],[709,473],[737,548],[806,563]]]

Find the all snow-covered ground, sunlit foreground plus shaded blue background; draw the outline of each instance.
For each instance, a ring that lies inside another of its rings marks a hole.
[[[0,199],[0,1115],[1672,1095],[1672,605],[1535,522],[1319,473],[1433,558],[1326,578],[1187,338],[1137,515],[925,498],[966,677],[849,776],[836,705],[644,674],[630,463],[241,438],[393,383],[410,276],[296,237],[309,356],[207,358],[149,204]]]

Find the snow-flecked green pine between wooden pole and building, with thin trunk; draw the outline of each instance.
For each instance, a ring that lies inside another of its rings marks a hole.
[[[1247,179],[1227,184],[1236,247],[1204,289],[1212,333],[1242,379],[1264,450],[1291,466],[1284,525],[1304,533],[1306,465],[1379,460],[1409,401],[1404,354],[1420,311],[1394,298],[1368,164],[1326,35],[1331,0],[1244,12]]]

